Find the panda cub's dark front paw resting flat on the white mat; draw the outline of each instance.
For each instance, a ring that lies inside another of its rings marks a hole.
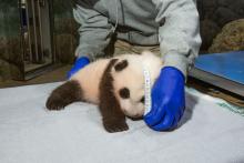
[[[125,120],[118,120],[118,119],[103,120],[103,125],[105,130],[110,133],[129,130]]]

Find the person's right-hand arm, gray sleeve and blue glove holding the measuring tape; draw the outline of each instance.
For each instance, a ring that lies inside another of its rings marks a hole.
[[[193,0],[153,0],[159,14],[164,68],[152,89],[152,108],[144,116],[155,131],[175,129],[185,110],[184,83],[201,45],[199,13]],[[163,24],[164,22],[164,24]]]

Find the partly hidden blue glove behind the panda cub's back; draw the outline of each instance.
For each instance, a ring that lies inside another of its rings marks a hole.
[[[71,68],[71,70],[68,72],[67,78],[70,79],[74,73],[77,73],[80,69],[84,68],[89,63],[90,63],[89,58],[87,57],[79,58],[74,62],[74,65]]]

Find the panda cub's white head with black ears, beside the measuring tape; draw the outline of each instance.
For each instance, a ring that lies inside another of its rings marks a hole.
[[[126,116],[141,118],[144,114],[143,70],[150,71],[150,79],[154,83],[161,68],[162,61],[149,51],[141,55],[124,54],[118,58],[111,70],[113,92]]]

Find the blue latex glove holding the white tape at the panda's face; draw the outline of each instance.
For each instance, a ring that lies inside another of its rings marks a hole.
[[[183,73],[165,67],[152,89],[152,108],[144,116],[145,123],[155,131],[173,130],[185,109],[185,79]]]

